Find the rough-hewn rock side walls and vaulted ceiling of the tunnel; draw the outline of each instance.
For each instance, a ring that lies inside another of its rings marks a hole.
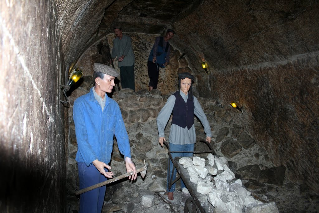
[[[172,45],[185,53],[199,96],[221,106],[238,102],[246,113],[233,119],[271,162],[286,166],[293,183],[318,193],[317,1],[22,0],[0,6],[1,150],[8,153],[0,209],[28,209],[27,197],[41,200],[31,209],[65,209],[68,109],[59,102],[59,84],[86,49],[112,33],[115,22],[132,35],[173,28]],[[21,167],[44,180],[34,182],[41,193],[28,194]],[[11,194],[17,186],[20,196]]]

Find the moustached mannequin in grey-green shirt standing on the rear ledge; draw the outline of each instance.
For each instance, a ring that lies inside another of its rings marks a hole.
[[[114,26],[113,29],[116,38],[113,41],[111,57],[114,60],[117,56],[119,61],[122,88],[131,88],[135,91],[132,39],[122,33],[121,26]]]

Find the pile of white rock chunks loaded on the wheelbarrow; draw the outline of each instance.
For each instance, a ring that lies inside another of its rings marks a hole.
[[[197,192],[207,195],[214,212],[278,212],[275,202],[263,203],[255,200],[236,179],[224,157],[207,156],[209,165],[201,157],[182,157],[179,163],[189,172],[190,181],[197,185]]]

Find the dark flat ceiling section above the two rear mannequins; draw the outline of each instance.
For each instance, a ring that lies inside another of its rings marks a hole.
[[[113,32],[112,24],[120,24],[126,32],[160,34],[202,3],[203,0],[115,1],[105,9],[99,33]]]

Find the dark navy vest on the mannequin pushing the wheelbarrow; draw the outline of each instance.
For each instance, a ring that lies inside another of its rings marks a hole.
[[[187,102],[185,103],[180,91],[173,94],[175,96],[175,104],[173,108],[172,124],[190,129],[194,124],[194,97],[188,93]]]

